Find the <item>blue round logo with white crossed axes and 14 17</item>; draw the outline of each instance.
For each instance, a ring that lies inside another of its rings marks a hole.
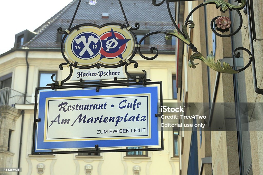
[[[99,54],[101,49],[99,36],[92,32],[83,32],[72,41],[72,52],[80,59],[88,60]]]

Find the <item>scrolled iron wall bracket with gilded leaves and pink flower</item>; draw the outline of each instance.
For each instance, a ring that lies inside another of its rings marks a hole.
[[[165,39],[166,40],[171,40],[172,36],[175,36],[176,38],[178,38],[179,40],[183,41],[185,44],[187,44],[190,49],[193,50],[193,52],[195,52],[193,55],[190,56],[190,60],[188,63],[188,66],[191,68],[196,68],[196,65],[198,65],[198,63],[194,63],[195,59],[201,60],[203,61],[208,67],[210,67],[211,69],[217,71],[217,72],[221,72],[221,73],[239,73],[241,71],[244,71],[247,67],[249,67],[252,64],[252,69],[253,69],[253,77],[254,77],[254,88],[255,88],[255,92],[259,93],[259,94],[263,94],[263,89],[260,89],[257,87],[257,79],[256,79],[256,68],[255,68],[255,57],[254,57],[254,45],[253,45],[253,40],[255,41],[256,39],[256,34],[255,34],[255,20],[254,20],[254,10],[253,10],[253,1],[251,0],[235,0],[235,2],[237,2],[236,5],[231,4],[229,2],[226,2],[224,0],[207,0],[204,1],[203,3],[199,4],[198,6],[196,6],[186,17],[185,19],[185,24],[182,25],[181,30],[178,28],[178,26],[175,23],[175,20],[172,16],[172,13],[170,11],[170,7],[169,7],[169,0],[163,0],[160,3],[156,3],[156,0],[152,0],[152,4],[154,6],[160,6],[162,5],[164,2],[166,2],[166,6],[168,9],[168,13],[170,15],[171,21],[174,24],[176,30],[174,30],[174,32],[168,32],[165,34]],[[209,54],[207,56],[207,58],[205,58],[200,52],[198,52],[197,48],[194,46],[193,43],[191,43],[190,41],[190,37],[189,34],[187,32],[187,25],[189,25],[189,28],[194,28],[194,22],[189,20],[189,18],[191,17],[191,15],[200,7],[203,7],[205,5],[208,4],[215,4],[216,8],[219,9],[222,13],[225,13],[227,10],[235,10],[236,13],[239,16],[240,19],[240,23],[238,28],[235,31],[231,31],[230,34],[220,34],[217,31],[220,31],[221,33],[224,33],[226,31],[229,31],[231,24],[233,23],[229,17],[226,16],[217,16],[215,18],[213,18],[210,22],[210,28],[213,31],[213,33],[215,33],[217,36],[219,37],[231,37],[235,34],[237,34],[243,24],[243,19],[242,19],[242,15],[240,13],[239,10],[246,8],[247,12],[248,12],[248,22],[249,22],[249,31],[250,31],[250,50],[244,48],[244,47],[238,47],[234,50],[234,56],[236,58],[240,57],[240,52],[237,52],[238,50],[243,50],[245,52],[247,52],[249,54],[249,60],[246,66],[244,66],[241,69],[238,70],[234,70],[228,63],[226,62],[221,62],[219,59],[215,62],[215,56],[213,55],[213,52],[211,52],[211,54]],[[216,28],[216,30],[215,30]],[[260,40],[260,39],[257,39]]]

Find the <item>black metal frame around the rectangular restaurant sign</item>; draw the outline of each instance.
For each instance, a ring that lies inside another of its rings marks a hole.
[[[163,104],[163,89],[162,82],[151,82],[150,79],[141,79],[141,80],[114,80],[114,81],[98,81],[98,82],[77,82],[77,83],[64,83],[64,85],[68,86],[54,86],[54,83],[47,84],[47,87],[36,87],[35,92],[35,104],[34,104],[34,125],[33,125],[33,139],[32,139],[32,155],[52,155],[52,154],[67,154],[67,153],[99,153],[99,152],[129,152],[129,151],[163,151],[164,150],[164,142],[163,142],[163,128],[161,127],[161,123],[163,123],[163,119],[160,117],[163,115],[163,112],[158,111],[158,114],[155,114],[155,117],[160,118],[158,121],[160,128],[160,147],[158,148],[142,148],[142,149],[103,149],[99,150],[99,145],[94,145],[94,150],[83,150],[83,151],[54,151],[54,152],[35,152],[35,143],[36,143],[36,127],[37,123],[41,122],[37,118],[37,106],[38,106],[38,95],[39,90],[47,90],[47,89],[72,89],[72,88],[88,88],[88,87],[96,87],[96,92],[99,93],[100,87],[114,87],[114,86],[136,86],[136,85],[159,85],[159,93],[160,93],[160,105]],[[95,89],[94,89],[95,90]],[[159,107],[158,107],[159,108]],[[153,146],[156,147],[156,146]],[[62,149],[65,150],[65,149]]]

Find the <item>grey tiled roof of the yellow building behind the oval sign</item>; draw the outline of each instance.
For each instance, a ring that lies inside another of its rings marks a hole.
[[[68,28],[77,3],[78,0],[73,0],[52,18],[34,30],[37,35],[26,43],[25,46],[42,48],[60,47],[60,43],[57,42],[57,28],[62,27],[63,30]],[[148,29],[150,32],[174,29],[165,3],[155,7],[151,4],[151,0],[122,0],[122,5],[128,22],[132,26],[134,26],[135,22],[138,22],[140,29]],[[170,3],[172,13],[174,12],[174,8],[175,4]],[[102,13],[109,13],[109,18],[102,18]],[[81,23],[102,25],[109,22],[125,24],[117,0],[97,0],[95,6],[89,5],[88,0],[82,0],[72,26]],[[164,48],[163,45],[166,45],[164,34],[150,36],[150,45],[162,45],[160,48]],[[171,46],[169,48],[171,48]],[[171,50],[174,50],[174,48],[171,48]]]

